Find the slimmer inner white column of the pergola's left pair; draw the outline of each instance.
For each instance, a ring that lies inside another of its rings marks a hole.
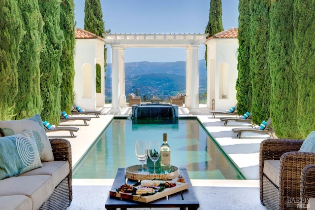
[[[126,108],[126,91],[125,91],[125,47],[118,49],[118,63],[119,63],[119,107]]]

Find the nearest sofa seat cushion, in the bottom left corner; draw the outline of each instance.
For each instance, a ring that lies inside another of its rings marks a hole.
[[[32,200],[25,195],[0,196],[1,210],[30,210]]]

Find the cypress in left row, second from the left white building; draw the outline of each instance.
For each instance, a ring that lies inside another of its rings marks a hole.
[[[43,99],[41,117],[50,124],[59,125],[61,111],[60,57],[63,49],[63,31],[60,29],[60,0],[38,1],[44,20],[46,46],[40,53],[40,88]]]

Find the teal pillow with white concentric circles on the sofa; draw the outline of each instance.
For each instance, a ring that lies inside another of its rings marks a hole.
[[[0,138],[0,180],[43,167],[31,130]]]

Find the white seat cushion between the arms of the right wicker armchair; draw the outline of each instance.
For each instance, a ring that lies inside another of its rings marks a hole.
[[[263,173],[279,187],[280,160],[265,160]]]

